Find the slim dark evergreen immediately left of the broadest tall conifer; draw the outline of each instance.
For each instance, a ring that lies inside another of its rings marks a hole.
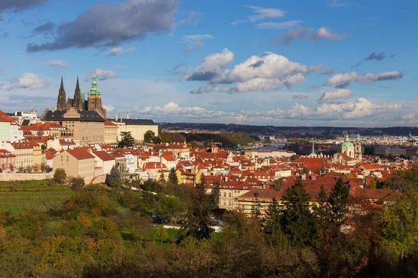
[[[284,249],[288,245],[288,240],[281,231],[280,218],[281,211],[277,199],[273,197],[272,204],[266,211],[267,224],[265,225],[265,238],[272,247]]]

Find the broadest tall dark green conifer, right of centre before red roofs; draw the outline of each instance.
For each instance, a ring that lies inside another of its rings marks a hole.
[[[283,196],[284,209],[281,211],[281,227],[291,245],[303,247],[311,243],[317,234],[316,218],[309,211],[311,196],[297,179]]]

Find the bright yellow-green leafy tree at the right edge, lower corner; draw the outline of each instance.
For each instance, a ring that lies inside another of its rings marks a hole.
[[[382,245],[403,261],[418,245],[418,193],[408,191],[382,212]]]

